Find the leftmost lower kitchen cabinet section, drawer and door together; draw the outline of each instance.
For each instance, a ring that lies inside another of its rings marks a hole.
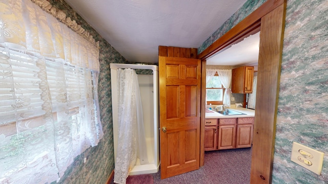
[[[217,150],[218,119],[205,119],[204,150]]]

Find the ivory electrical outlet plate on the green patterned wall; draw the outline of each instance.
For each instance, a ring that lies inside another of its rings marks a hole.
[[[321,174],[323,155],[321,151],[293,142],[291,160],[318,175]]]

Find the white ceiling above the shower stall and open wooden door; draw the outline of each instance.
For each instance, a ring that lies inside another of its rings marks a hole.
[[[200,47],[247,0],[65,1],[129,62],[157,63],[158,45]]]

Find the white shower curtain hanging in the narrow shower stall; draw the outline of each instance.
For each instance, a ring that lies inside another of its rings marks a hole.
[[[119,68],[117,83],[119,113],[114,182],[125,184],[136,159],[143,165],[148,164],[148,157],[137,74],[132,69]]]

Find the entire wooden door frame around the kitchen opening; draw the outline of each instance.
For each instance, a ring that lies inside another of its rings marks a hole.
[[[262,83],[258,81],[257,86],[257,91],[261,93],[256,96],[251,183],[271,183],[285,9],[286,0],[268,0],[198,55],[198,59],[202,62],[201,166],[204,165],[206,59],[228,49],[230,45],[240,42],[243,38],[261,31],[258,76],[265,81]],[[263,101],[266,103],[259,103]]]

